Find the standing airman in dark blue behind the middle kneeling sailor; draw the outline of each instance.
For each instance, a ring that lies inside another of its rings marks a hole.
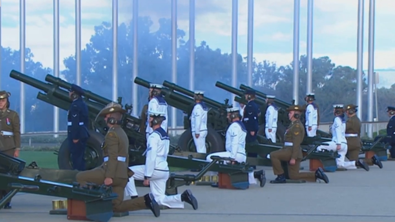
[[[255,91],[246,90],[245,99],[248,101],[243,113],[243,123],[247,130],[246,143],[256,142],[259,128],[258,116],[260,109],[255,103]]]

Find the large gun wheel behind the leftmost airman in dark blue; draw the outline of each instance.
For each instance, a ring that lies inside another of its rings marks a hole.
[[[85,166],[86,169],[93,169],[100,166],[103,163],[103,152],[101,149],[101,144],[104,139],[103,135],[89,130],[90,137],[87,141],[87,147],[85,149]],[[73,164],[71,163],[71,153],[69,149],[69,141],[65,139],[60,146],[58,152],[58,167],[59,169],[73,169]]]

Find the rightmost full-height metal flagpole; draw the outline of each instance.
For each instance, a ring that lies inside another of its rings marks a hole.
[[[374,0],[369,1],[369,52],[368,52],[368,121],[373,121],[373,73],[374,73]],[[368,126],[368,136],[373,137],[373,125]]]

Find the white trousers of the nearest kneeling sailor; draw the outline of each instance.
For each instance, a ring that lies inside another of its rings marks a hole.
[[[134,172],[134,175],[129,178],[129,182],[126,184],[125,194],[126,196],[137,196],[134,180],[144,180],[145,165],[131,166],[129,169]],[[169,208],[184,208],[184,202],[181,201],[181,194],[166,196],[167,179],[169,179],[169,171],[154,170],[149,180],[149,186],[156,202],[158,202],[159,205],[164,205]]]

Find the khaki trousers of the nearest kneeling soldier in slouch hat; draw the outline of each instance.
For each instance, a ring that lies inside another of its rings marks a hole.
[[[104,183],[104,174],[105,171],[101,167],[96,167],[91,170],[77,173],[76,180],[77,182],[79,182],[80,186],[85,186],[87,182],[92,182],[100,185]],[[113,184],[111,184],[111,186],[113,188],[113,192],[118,194],[118,198],[113,200],[113,211],[126,212],[147,209],[144,197],[128,199],[124,201],[124,190],[127,183],[128,179],[113,179]]]

